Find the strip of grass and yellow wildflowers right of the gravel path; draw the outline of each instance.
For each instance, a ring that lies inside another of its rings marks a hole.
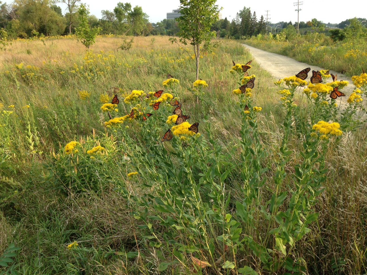
[[[289,40],[286,40],[285,36],[283,38],[279,35],[277,38],[265,35],[251,37],[244,43],[310,65],[335,70],[347,76],[359,75],[362,69],[366,71],[366,38],[334,42],[329,36],[317,32],[294,36]]]

